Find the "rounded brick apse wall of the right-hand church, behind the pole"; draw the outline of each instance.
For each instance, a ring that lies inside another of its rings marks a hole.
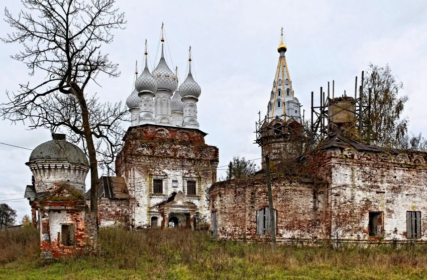
[[[273,206],[277,210],[277,240],[324,238],[323,196],[313,182],[272,176]],[[211,211],[217,211],[218,237],[265,240],[256,234],[256,211],[268,206],[264,175],[223,181],[210,189]]]

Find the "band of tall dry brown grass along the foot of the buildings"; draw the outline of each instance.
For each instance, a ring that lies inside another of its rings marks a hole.
[[[236,271],[244,279],[247,273],[262,278],[272,270],[289,271],[301,267],[427,271],[426,252],[425,244],[365,248],[342,246],[338,249],[279,245],[273,250],[267,243],[211,240],[207,231],[101,228],[94,255],[78,255],[61,262],[76,271],[90,267],[157,271],[161,274],[167,273],[170,267],[183,267],[204,279],[223,278],[225,274]],[[5,264],[20,258],[43,264],[39,261],[37,230],[22,228],[0,232],[0,261]],[[166,276],[157,275],[160,278]]]

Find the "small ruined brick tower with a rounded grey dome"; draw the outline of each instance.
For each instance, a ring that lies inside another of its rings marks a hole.
[[[83,151],[64,134],[37,146],[26,163],[33,173],[28,185],[32,225],[40,228],[43,258],[69,256],[90,249],[96,241],[96,221],[84,199],[89,163]]]

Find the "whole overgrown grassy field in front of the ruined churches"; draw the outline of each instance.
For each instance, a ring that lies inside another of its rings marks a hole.
[[[427,279],[427,246],[296,247],[211,240],[207,231],[103,228],[98,251],[39,258],[32,228],[0,232],[0,279]]]

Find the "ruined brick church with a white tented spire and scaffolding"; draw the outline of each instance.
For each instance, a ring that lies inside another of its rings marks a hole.
[[[283,40],[278,52],[266,119],[257,135],[263,169],[209,188],[213,236],[270,239],[264,161],[268,155],[278,241],[427,241],[427,153],[367,145],[348,137],[343,131],[355,122],[355,114],[342,108],[351,108],[354,99],[340,97],[331,99],[328,119],[339,127],[297,157],[299,103],[293,97]],[[283,95],[285,99],[278,98]]]

